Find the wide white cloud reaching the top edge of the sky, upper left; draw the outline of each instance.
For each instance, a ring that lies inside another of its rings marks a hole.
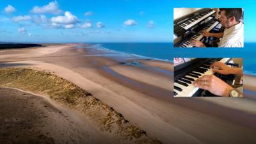
[[[47,5],[42,7],[34,6],[34,8],[30,11],[31,13],[52,13],[52,14],[60,14],[61,10],[58,6],[57,1],[52,1]]]

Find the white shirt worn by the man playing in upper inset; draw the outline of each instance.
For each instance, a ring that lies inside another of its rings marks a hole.
[[[219,47],[244,47],[244,24],[239,22],[224,30]]]

